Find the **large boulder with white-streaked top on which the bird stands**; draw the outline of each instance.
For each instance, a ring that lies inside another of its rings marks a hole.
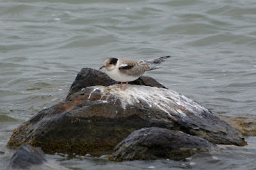
[[[143,127],[183,131],[214,144],[246,145],[234,128],[177,92],[112,85],[87,87],[40,111],[13,131],[8,147],[29,143],[45,153],[103,155]]]

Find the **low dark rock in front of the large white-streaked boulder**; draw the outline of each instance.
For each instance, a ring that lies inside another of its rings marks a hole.
[[[209,152],[214,145],[198,136],[159,127],[132,132],[116,145],[109,160],[180,160],[199,152]]]

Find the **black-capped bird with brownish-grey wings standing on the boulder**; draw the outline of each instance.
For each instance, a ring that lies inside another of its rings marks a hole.
[[[162,62],[172,56],[159,57],[152,60],[130,60],[130,59],[117,59],[109,58],[104,62],[104,66],[99,69],[106,69],[108,76],[115,80],[120,81],[119,88],[122,90],[127,89],[129,81],[134,81],[140,78],[146,71],[159,69]],[[125,86],[123,82],[126,82]]]

